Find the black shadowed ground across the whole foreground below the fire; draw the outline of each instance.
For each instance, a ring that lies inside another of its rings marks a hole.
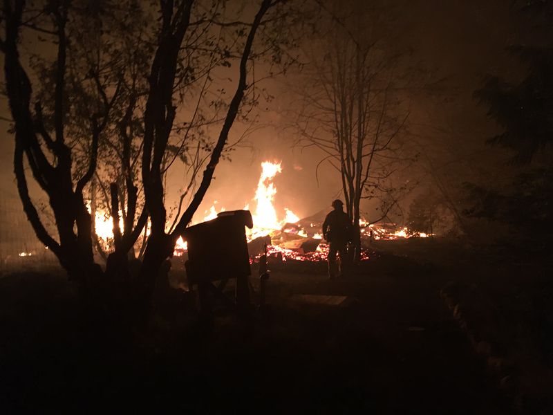
[[[326,278],[324,263],[270,264],[270,308],[245,320],[224,304],[204,320],[196,294],[158,287],[140,331],[91,314],[61,271],[6,275],[3,407],[551,409],[550,257],[454,239],[377,241],[372,248],[371,259],[337,281]],[[186,288],[183,278],[175,259],[171,286]],[[252,284],[256,302],[256,277]],[[227,293],[233,290],[230,283]],[[460,306],[448,311],[440,292]],[[318,302],[325,295],[347,301]]]

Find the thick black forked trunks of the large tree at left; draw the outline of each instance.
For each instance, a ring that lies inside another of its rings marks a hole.
[[[100,133],[109,120],[111,104],[106,102],[102,113],[102,122],[98,123],[96,116],[91,117],[92,148],[88,170],[75,184],[73,181],[73,159],[71,148],[64,142],[64,103],[71,101],[65,95],[66,84],[66,33],[65,24],[68,21],[68,2],[54,2],[52,13],[56,18],[57,34],[57,66],[55,73],[55,136],[50,137],[48,129],[41,122],[39,105],[35,113],[30,109],[32,99],[32,85],[24,67],[19,60],[19,30],[22,26],[22,15],[25,8],[24,1],[3,1],[3,24],[6,26],[5,39],[0,42],[0,48],[5,54],[4,73],[6,75],[6,91],[10,110],[15,121],[15,154],[14,169],[17,179],[19,196],[24,204],[28,219],[40,241],[49,248],[59,259],[71,279],[76,280],[84,295],[94,302],[113,304],[118,294],[132,296],[129,304],[138,306],[142,313],[140,317],[147,317],[151,308],[151,297],[156,285],[160,267],[171,256],[178,236],[185,230],[192,215],[198,208],[209,187],[216,165],[221,158],[221,152],[227,142],[229,130],[236,119],[238,109],[247,85],[247,62],[250,59],[252,44],[256,30],[262,24],[265,12],[279,0],[263,0],[252,22],[250,33],[245,41],[240,63],[240,77],[234,98],[229,104],[227,116],[223,123],[212,157],[205,169],[203,180],[198,192],[186,212],[176,225],[174,232],[165,233],[166,216],[163,203],[163,184],[161,163],[167,149],[169,135],[173,129],[176,107],[173,102],[174,80],[178,68],[179,53],[182,40],[189,25],[189,17],[194,0],[182,2],[160,3],[162,8],[162,33],[157,45],[156,56],[151,64],[149,77],[150,90],[148,93],[146,112],[144,115],[144,147],[142,163],[142,181],[147,209],[138,219],[138,225],[132,229],[135,215],[136,189],[126,172],[129,182],[129,205],[126,212],[124,232],[118,230],[118,223],[114,223],[115,252],[107,258],[106,270],[102,272],[95,264],[93,257],[93,219],[86,210],[83,192],[84,187],[91,181],[96,170],[97,149]],[[114,93],[117,95],[119,88]],[[132,107],[132,105],[131,105]],[[42,190],[48,194],[50,208],[55,216],[57,236],[56,241],[41,222],[40,216],[32,203],[26,182],[24,157],[28,161],[32,175]],[[126,164],[128,165],[128,158]],[[128,169],[127,169],[128,170]],[[130,185],[129,185],[130,183]],[[112,192],[112,216],[117,216],[119,203],[116,189]],[[148,212],[149,211],[149,212]],[[140,277],[130,291],[123,293],[117,287],[129,287],[125,282],[127,273],[127,255],[132,250],[133,243],[140,236],[140,231],[147,222],[148,214],[151,217],[151,236],[148,238],[144,255],[144,262]],[[115,221],[118,222],[118,221]],[[131,232],[132,230],[132,232]]]

